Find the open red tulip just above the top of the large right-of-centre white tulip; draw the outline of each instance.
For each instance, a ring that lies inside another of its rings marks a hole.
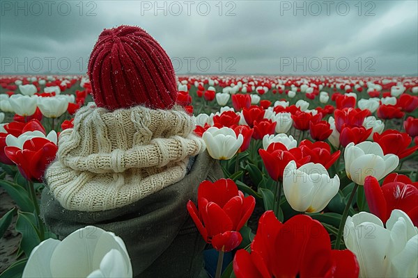
[[[311,142],[303,140],[299,144],[303,156],[311,156],[309,162],[322,164],[325,169],[329,169],[339,158],[341,151],[331,154],[331,147],[326,142]]]

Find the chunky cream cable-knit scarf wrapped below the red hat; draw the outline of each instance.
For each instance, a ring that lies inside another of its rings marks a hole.
[[[132,204],[186,174],[189,156],[205,145],[182,108],[143,106],[109,112],[84,106],[59,136],[45,179],[64,208],[104,211]]]

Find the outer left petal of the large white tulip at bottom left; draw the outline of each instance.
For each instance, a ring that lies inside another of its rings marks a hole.
[[[50,263],[52,253],[61,241],[48,238],[33,248],[28,262],[24,266],[23,278],[52,277]]]

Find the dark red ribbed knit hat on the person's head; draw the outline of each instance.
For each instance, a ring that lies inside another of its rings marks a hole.
[[[110,111],[137,105],[170,109],[177,99],[169,56],[136,26],[104,29],[91,51],[88,77],[95,104]]]

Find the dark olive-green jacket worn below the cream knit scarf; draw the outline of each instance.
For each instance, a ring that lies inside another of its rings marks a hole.
[[[68,211],[45,188],[40,214],[61,238],[87,225],[120,236],[130,254],[134,277],[206,277],[206,243],[189,217],[186,204],[189,199],[197,204],[201,181],[222,177],[219,163],[203,152],[181,181],[134,204],[108,211]]]

